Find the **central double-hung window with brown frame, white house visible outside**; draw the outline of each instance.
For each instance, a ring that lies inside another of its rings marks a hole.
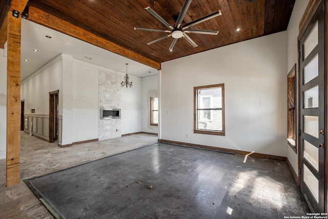
[[[194,87],[194,133],[224,135],[224,84]]]

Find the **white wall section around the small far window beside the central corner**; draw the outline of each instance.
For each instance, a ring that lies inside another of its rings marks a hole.
[[[158,97],[158,76],[142,78],[142,124],[141,131],[158,133],[157,126],[150,125],[150,97]]]

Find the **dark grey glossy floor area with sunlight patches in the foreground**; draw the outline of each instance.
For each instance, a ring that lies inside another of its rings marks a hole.
[[[285,162],[155,144],[29,181],[61,218],[284,218],[308,209]],[[151,187],[150,187],[151,186]]]

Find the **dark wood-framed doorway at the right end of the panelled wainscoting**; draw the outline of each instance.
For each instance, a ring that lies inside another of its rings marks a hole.
[[[49,142],[58,141],[59,90],[49,92]]]

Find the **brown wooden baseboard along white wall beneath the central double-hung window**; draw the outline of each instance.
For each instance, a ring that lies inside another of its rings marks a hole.
[[[252,156],[258,156],[258,157],[262,157],[262,158],[275,159],[275,160],[279,160],[279,161],[287,161],[287,157],[284,157],[284,156],[276,156],[276,155],[262,154],[262,153],[253,153],[253,152],[249,152],[249,151],[240,151],[240,150],[234,150],[234,149],[212,147],[212,146],[207,146],[207,145],[197,145],[197,144],[191,144],[191,143],[185,143],[185,142],[175,142],[175,141],[164,140],[164,139],[159,139],[158,142],[177,144],[177,145],[185,145],[185,146],[192,146],[192,147],[205,148],[205,149],[211,149],[211,150],[227,151],[227,152],[230,152],[230,153],[236,153],[236,154],[242,154],[242,155],[252,155]]]

